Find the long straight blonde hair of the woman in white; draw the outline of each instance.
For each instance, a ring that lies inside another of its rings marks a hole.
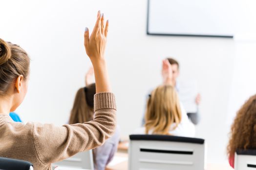
[[[145,114],[146,134],[152,130],[153,134],[170,135],[170,127],[181,121],[181,109],[178,95],[171,85],[160,85],[155,88],[148,100]]]

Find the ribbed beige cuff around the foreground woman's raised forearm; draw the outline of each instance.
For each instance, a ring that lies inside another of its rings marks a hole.
[[[94,95],[94,111],[99,109],[115,109],[115,95],[109,92],[97,93]]]

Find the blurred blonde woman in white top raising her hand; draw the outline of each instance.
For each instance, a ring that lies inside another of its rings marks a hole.
[[[147,102],[144,127],[133,134],[158,134],[194,137],[195,127],[188,119],[177,92],[171,84],[171,64],[163,61],[164,85],[156,87]]]

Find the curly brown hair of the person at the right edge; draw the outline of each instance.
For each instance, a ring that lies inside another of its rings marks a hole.
[[[256,95],[251,96],[237,112],[231,127],[231,138],[228,144],[230,166],[234,168],[237,149],[256,148]]]

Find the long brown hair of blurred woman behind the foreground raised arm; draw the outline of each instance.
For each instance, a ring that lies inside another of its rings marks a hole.
[[[93,119],[93,97],[95,93],[95,84],[80,88],[77,91],[69,124],[84,123]]]

